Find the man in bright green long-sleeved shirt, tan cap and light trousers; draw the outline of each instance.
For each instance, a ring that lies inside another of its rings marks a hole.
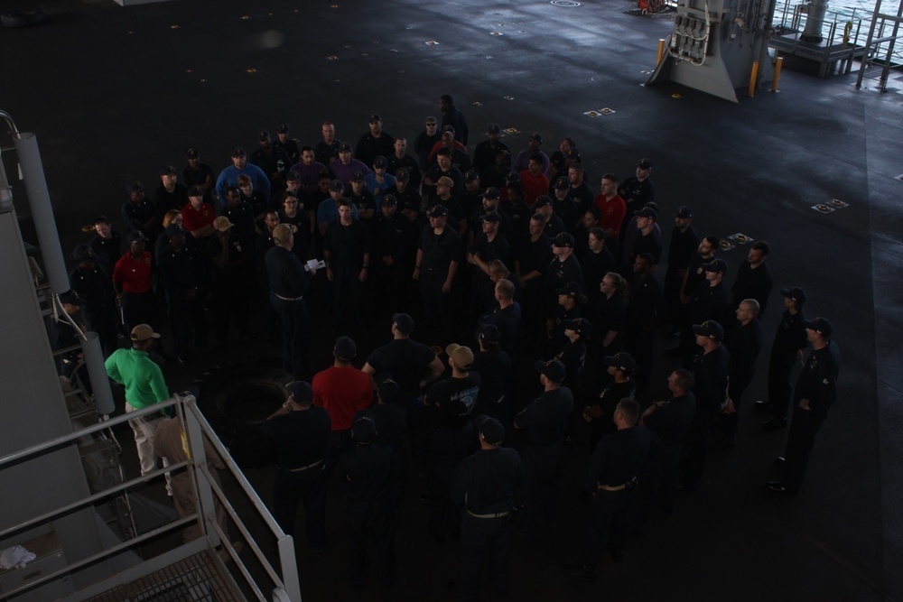
[[[154,339],[160,338],[160,335],[147,324],[138,324],[132,329],[131,338],[132,348],[116,349],[113,355],[107,357],[106,363],[107,376],[126,387],[126,412],[141,410],[170,396],[163,380],[163,371],[148,355],[154,346]],[[135,432],[142,475],[156,468],[154,429],[158,421],[160,417],[153,414],[128,421]]]

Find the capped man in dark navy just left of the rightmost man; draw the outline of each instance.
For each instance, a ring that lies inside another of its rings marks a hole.
[[[756,402],[757,407],[774,412],[774,417],[762,424],[762,428],[767,430],[787,426],[787,412],[790,410],[790,396],[793,394],[790,375],[796,360],[803,361],[803,348],[806,346],[803,328],[805,291],[798,286],[781,289],[781,297],[784,299],[785,309],[768,356],[768,400]]]

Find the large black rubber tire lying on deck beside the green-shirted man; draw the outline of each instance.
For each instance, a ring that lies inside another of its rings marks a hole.
[[[266,418],[287,396],[289,375],[262,359],[222,366],[200,387],[200,411],[242,468],[275,463],[275,447],[261,432]]]

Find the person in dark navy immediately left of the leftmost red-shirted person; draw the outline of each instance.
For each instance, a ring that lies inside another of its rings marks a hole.
[[[69,284],[85,302],[82,313],[88,330],[98,333],[104,356],[116,350],[116,292],[113,281],[102,272],[88,245],[78,245],[72,252],[76,267],[69,273]]]

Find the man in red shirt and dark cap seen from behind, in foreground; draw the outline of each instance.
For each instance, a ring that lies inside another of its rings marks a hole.
[[[313,404],[326,408],[332,427],[326,446],[326,474],[329,475],[339,457],[354,447],[351,422],[354,415],[373,403],[373,380],[370,375],[351,366],[358,347],[349,337],[336,339],[332,349],[332,367],[313,376]]]

